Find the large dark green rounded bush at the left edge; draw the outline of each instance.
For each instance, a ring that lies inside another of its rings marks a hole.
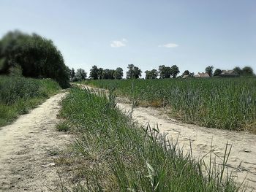
[[[0,74],[21,67],[25,77],[52,78],[62,88],[69,87],[68,68],[51,40],[37,34],[9,32],[0,41]]]

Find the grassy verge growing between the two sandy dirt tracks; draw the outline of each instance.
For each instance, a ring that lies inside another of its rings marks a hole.
[[[72,153],[59,159],[75,167],[75,186],[63,191],[238,191],[224,166],[192,160],[156,128],[133,123],[114,98],[74,88],[62,101],[59,129],[76,136]]]

